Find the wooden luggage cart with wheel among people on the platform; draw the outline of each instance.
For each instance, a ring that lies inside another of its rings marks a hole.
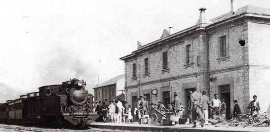
[[[152,124],[162,123],[162,119],[166,119],[166,118],[170,119],[170,117],[166,117],[166,115],[167,116],[171,115],[170,113],[172,113],[172,112],[170,112],[166,108],[164,108],[164,111],[160,111],[156,108],[151,108],[151,110],[149,112],[151,123]]]

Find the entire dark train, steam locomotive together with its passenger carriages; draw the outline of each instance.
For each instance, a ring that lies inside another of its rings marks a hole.
[[[39,87],[39,92],[0,104],[0,122],[35,122],[43,126],[88,128],[99,115],[93,111],[92,94],[86,82],[70,79],[59,85]]]

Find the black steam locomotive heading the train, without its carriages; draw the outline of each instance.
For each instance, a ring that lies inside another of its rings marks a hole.
[[[98,118],[93,111],[93,95],[85,90],[86,82],[70,79],[62,85],[48,85],[40,90],[40,114],[44,125],[73,125],[88,127]]]

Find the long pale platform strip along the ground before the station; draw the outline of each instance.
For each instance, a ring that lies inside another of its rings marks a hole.
[[[160,125],[160,124],[138,124],[138,123],[91,123],[90,127],[119,130],[141,130],[141,131],[185,131],[185,132],[208,132],[208,131],[270,131],[270,126],[261,127],[215,127],[214,125],[197,125],[192,128],[192,124]]]

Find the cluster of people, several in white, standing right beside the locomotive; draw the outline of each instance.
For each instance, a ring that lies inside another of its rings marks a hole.
[[[127,101],[125,101],[125,105],[123,106],[120,99],[110,102],[105,99],[105,101],[102,103],[101,101],[97,101],[94,105],[94,109],[96,112],[98,112],[100,117],[102,117],[103,122],[121,123],[122,119],[124,122],[126,122],[126,117],[128,117],[127,121],[130,122],[130,120],[133,118],[131,115],[131,106],[128,105]]]

